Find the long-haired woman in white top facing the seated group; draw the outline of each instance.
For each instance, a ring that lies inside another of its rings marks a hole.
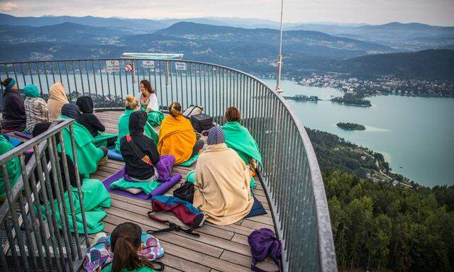
[[[140,110],[147,113],[148,123],[153,127],[161,125],[164,114],[159,109],[156,91],[151,86],[150,81],[146,79],[140,81],[140,92],[137,99],[140,103]]]

